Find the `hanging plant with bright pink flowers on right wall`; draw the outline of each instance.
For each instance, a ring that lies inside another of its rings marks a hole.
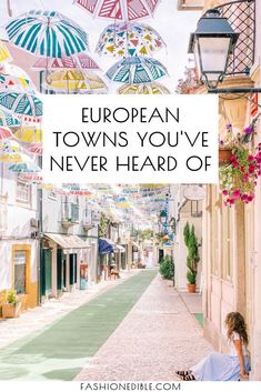
[[[252,122],[244,129],[243,135],[233,137],[232,127],[227,125],[227,139],[221,148],[231,149],[230,162],[220,167],[220,188],[224,197],[224,204],[232,205],[241,200],[249,203],[254,199],[257,180],[261,175],[261,143],[251,153],[249,142],[254,134]]]

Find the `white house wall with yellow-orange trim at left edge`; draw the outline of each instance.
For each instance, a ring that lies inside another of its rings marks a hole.
[[[8,164],[0,163],[0,194],[2,203],[0,230],[0,293],[14,288],[14,251],[26,251],[27,254],[27,284],[26,295],[20,295],[23,309],[33,308],[38,303],[38,251],[39,241],[31,239],[37,229],[31,227],[30,220],[38,219],[37,188],[31,185],[29,203],[17,199],[17,174],[8,170]],[[4,204],[3,204],[4,203]]]

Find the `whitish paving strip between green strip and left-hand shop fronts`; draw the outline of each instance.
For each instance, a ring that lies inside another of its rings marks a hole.
[[[91,301],[96,295],[124,282],[139,270],[121,271],[121,279],[92,284],[88,290],[63,293],[59,299],[51,299],[41,306],[29,309],[18,319],[0,319],[0,349],[48,326],[73,309]]]

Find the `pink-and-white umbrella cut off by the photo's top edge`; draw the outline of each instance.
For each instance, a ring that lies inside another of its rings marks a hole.
[[[152,17],[159,0],[76,0],[94,17],[131,21]]]

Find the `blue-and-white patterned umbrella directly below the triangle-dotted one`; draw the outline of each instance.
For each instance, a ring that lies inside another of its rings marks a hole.
[[[150,83],[168,74],[165,67],[152,58],[132,57],[118,61],[107,77],[121,83]]]

